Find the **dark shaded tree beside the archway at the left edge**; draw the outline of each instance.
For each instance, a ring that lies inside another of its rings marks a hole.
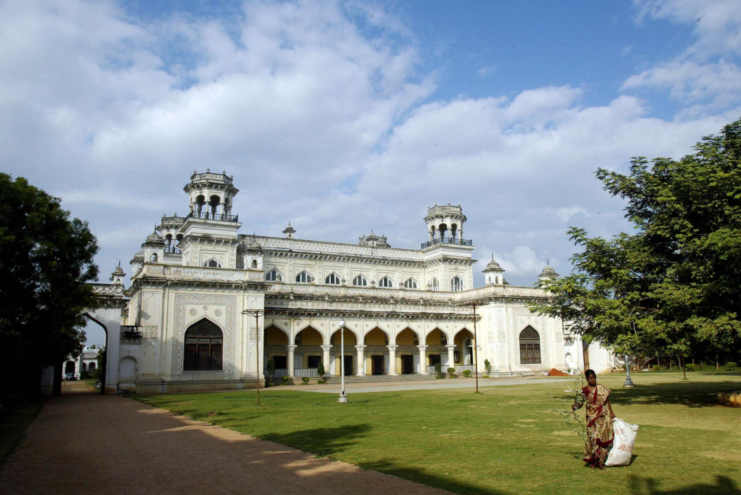
[[[0,338],[13,370],[4,388],[33,394],[42,368],[79,355],[98,246],[86,222],[24,178],[0,173],[0,197]]]

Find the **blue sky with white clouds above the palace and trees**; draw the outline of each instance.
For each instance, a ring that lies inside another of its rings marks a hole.
[[[632,228],[598,167],[740,118],[741,3],[0,0],[0,68],[0,171],[90,223],[103,282],[208,167],[242,233],[419,249],[461,203],[477,285],[531,286],[569,227]]]

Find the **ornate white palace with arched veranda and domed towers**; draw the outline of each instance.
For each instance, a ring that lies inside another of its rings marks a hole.
[[[187,215],[162,217],[130,262],[117,342],[108,334],[109,393],[249,388],[268,360],[296,382],[319,363],[336,376],[340,320],[349,375],[473,371],[476,360],[492,376],[567,367],[573,337],[527,307],[545,291],[509,285],[494,260],[473,286],[460,205],[428,208],[425,242],[399,249],[372,232],[357,244],[303,240],[290,223],[280,237],[239,234],[225,173],[194,171],[185,192]],[[242,313],[256,309],[267,312],[257,323]]]

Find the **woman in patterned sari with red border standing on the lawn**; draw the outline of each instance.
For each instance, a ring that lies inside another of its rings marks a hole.
[[[587,440],[584,445],[584,462],[591,468],[602,469],[612,446],[612,413],[610,389],[597,385],[597,374],[585,371],[588,385],[582,388],[580,399],[571,406],[571,411],[587,405]]]

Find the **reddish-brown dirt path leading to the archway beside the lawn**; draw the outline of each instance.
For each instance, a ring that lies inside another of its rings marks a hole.
[[[447,493],[99,394],[47,400],[0,471],[1,494],[197,492]]]

